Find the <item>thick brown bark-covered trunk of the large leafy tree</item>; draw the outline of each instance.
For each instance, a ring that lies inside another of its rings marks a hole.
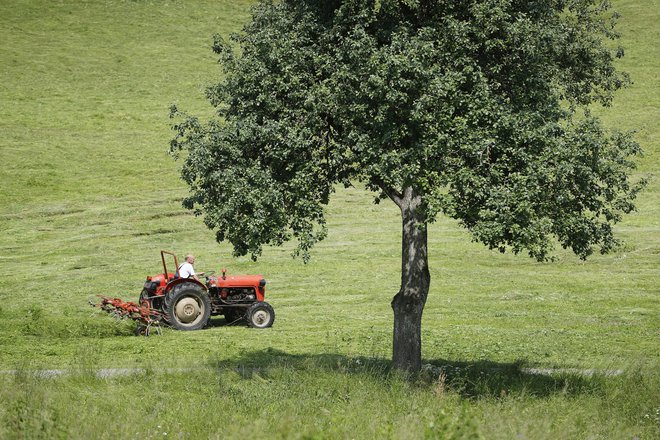
[[[418,372],[422,366],[422,311],[431,284],[427,228],[420,212],[422,199],[412,188],[406,188],[395,202],[401,208],[403,233],[401,289],[392,300],[392,366],[397,370]]]

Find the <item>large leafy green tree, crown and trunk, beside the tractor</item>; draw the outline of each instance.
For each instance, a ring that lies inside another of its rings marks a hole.
[[[606,44],[616,18],[594,0],[261,1],[230,42],[215,37],[218,118],[172,109],[184,206],[236,255],[296,239],[307,261],[337,184],[393,201],[393,366],[417,371],[438,215],[541,261],[555,243],[581,258],[616,246],[644,183],[630,178],[632,135],[589,111],[628,82]]]

